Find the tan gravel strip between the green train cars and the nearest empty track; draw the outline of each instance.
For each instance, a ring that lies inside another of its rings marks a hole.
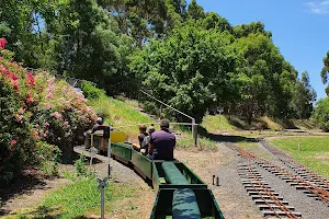
[[[237,172],[237,153],[218,143],[218,151],[177,150],[174,155],[193,170],[211,188],[227,219],[263,218],[242,187]],[[220,186],[213,185],[213,175],[219,176]]]

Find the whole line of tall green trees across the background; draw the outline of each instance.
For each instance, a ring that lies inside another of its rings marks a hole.
[[[249,122],[313,111],[308,74],[298,78],[263,23],[234,26],[195,0],[8,0],[0,19],[0,37],[26,67],[97,82],[110,95],[143,89],[198,122],[211,108]]]

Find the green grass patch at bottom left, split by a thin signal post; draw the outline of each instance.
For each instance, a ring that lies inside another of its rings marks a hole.
[[[132,197],[136,188],[123,184],[113,184],[105,191],[106,209],[111,203]],[[15,216],[7,218],[70,219],[83,218],[87,211],[100,211],[100,191],[93,177],[82,177],[46,196],[36,208],[21,209]],[[114,209],[110,208],[110,211]],[[106,214],[111,214],[106,211]]]

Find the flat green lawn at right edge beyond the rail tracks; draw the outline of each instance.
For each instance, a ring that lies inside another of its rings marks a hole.
[[[329,178],[329,137],[291,137],[271,139],[271,142],[298,162]]]

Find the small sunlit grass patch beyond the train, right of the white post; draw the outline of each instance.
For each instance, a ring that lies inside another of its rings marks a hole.
[[[206,115],[201,124],[208,132],[236,130],[225,115]]]

